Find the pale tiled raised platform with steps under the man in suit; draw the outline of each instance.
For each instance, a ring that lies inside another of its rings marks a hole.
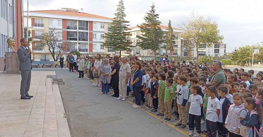
[[[17,74],[0,73],[0,137],[70,137],[58,85],[47,75],[55,71],[32,71],[29,100],[20,99]]]

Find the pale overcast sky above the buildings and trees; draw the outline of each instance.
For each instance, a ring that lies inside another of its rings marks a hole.
[[[24,0],[24,10],[27,10]],[[119,0],[29,0],[29,10],[57,10],[61,8],[83,8],[84,12],[114,17]],[[144,22],[145,13],[154,3],[156,13],[160,14],[162,25],[168,20],[173,27],[179,27],[192,11],[204,18],[210,17],[218,22],[220,34],[227,52],[244,45],[263,41],[263,1],[262,0],[124,0],[126,20],[130,27]]]

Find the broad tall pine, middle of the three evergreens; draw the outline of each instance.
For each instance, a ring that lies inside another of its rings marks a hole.
[[[163,43],[163,31],[158,26],[161,22],[158,20],[159,14],[155,13],[154,5],[150,6],[151,10],[146,13],[144,17],[145,23],[138,26],[141,31],[141,36],[137,36],[141,39],[139,46],[143,50],[152,50],[154,52],[154,60],[156,58],[156,52],[160,49],[159,45]]]

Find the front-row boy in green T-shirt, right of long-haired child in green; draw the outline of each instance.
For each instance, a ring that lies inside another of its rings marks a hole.
[[[166,86],[164,92],[164,105],[165,105],[165,116],[163,120],[166,122],[170,122],[172,118],[172,99],[173,99],[173,92],[174,89],[172,87],[173,79],[169,78],[166,79]]]

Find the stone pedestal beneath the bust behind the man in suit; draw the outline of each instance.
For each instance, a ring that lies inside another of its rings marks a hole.
[[[19,59],[16,52],[6,52],[6,73],[20,74]]]

